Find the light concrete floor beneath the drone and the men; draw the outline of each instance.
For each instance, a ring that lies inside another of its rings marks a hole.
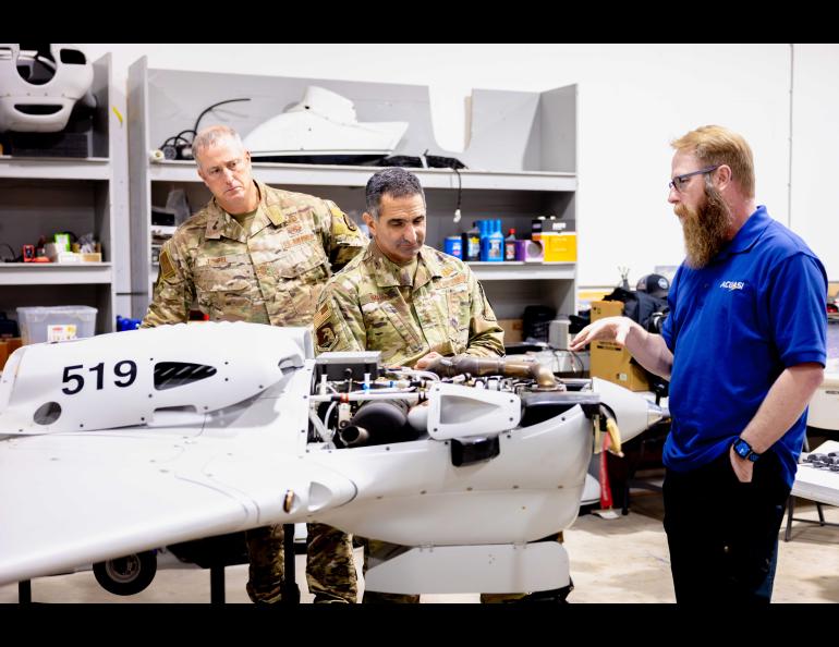
[[[839,508],[825,506],[827,521],[839,523]],[[816,518],[815,505],[799,499],[795,516]],[[658,493],[634,490],[631,512],[615,520],[580,516],[566,532],[574,590],[570,602],[673,602],[667,539]],[[785,520],[786,524],[786,520]],[[839,527],[794,522],[792,539],[779,542],[774,602],[839,602]],[[356,559],[361,551],[356,551]],[[311,602],[305,562],[297,556],[302,601]],[[226,569],[228,602],[250,602],[247,566]],[[146,590],[120,597],[100,588],[92,572],[41,577],[32,583],[35,602],[209,602],[209,571],[158,571]],[[0,602],[16,602],[17,586],[0,587]],[[477,594],[425,595],[423,602],[477,603]]]

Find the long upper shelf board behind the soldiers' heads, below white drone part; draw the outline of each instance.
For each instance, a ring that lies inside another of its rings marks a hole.
[[[377,167],[337,164],[285,164],[254,162],[254,176],[267,184],[365,186]],[[458,188],[458,175],[450,169],[410,169],[424,188]],[[575,173],[547,171],[459,171],[464,191],[494,188],[511,191],[576,191]],[[200,182],[191,160],[149,163],[149,179],[162,182]]]

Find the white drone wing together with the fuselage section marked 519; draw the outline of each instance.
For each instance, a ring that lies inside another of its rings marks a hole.
[[[305,460],[309,346],[205,324],[16,351],[0,383],[0,584],[350,501],[351,480]]]

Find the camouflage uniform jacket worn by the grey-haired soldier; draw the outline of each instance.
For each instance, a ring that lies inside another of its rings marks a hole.
[[[163,244],[144,328],[186,321],[193,303],[214,321],[311,325],[331,266],[368,239],[330,200],[256,185],[250,235],[214,198]]]

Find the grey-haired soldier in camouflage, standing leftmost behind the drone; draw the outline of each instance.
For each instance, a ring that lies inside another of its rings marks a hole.
[[[362,251],[367,236],[335,203],[254,181],[251,155],[232,129],[205,129],[193,152],[214,199],[163,245],[142,327],[186,321],[193,305],[214,321],[309,326],[332,269]],[[306,579],[315,601],[355,602],[350,536],[309,524],[308,538]],[[279,601],[282,525],[248,530],[246,539],[248,596]]]

